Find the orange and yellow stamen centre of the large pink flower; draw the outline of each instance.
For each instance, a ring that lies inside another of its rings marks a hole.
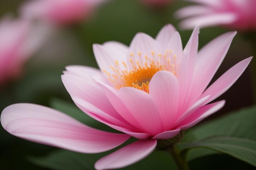
[[[115,65],[110,68],[112,73],[102,71],[107,74],[108,80],[116,89],[134,87],[149,93],[149,82],[157,71],[166,70],[174,75],[177,73],[176,55],[173,55],[171,50],[158,55],[151,51],[150,56],[142,56],[141,52],[136,55],[130,53],[128,62],[119,63],[116,60]]]

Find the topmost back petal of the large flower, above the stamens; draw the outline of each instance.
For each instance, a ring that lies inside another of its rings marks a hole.
[[[155,40],[159,43],[162,49],[166,50],[171,37],[176,32],[176,29],[171,24],[166,24],[157,34]]]

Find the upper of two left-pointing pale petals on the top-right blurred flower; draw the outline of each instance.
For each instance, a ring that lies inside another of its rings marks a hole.
[[[206,7],[202,5],[191,5],[176,11],[175,16],[176,18],[180,19],[180,18],[192,17],[195,15],[205,15],[212,12],[213,10],[210,7]]]

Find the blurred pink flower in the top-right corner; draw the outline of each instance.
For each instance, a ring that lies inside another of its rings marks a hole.
[[[184,29],[222,25],[242,31],[256,29],[255,0],[188,0],[199,4],[177,11]]]

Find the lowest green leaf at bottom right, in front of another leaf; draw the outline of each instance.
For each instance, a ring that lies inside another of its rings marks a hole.
[[[183,152],[190,148],[209,148],[256,166],[256,141],[250,139],[217,136],[192,143],[183,143],[179,147]]]

